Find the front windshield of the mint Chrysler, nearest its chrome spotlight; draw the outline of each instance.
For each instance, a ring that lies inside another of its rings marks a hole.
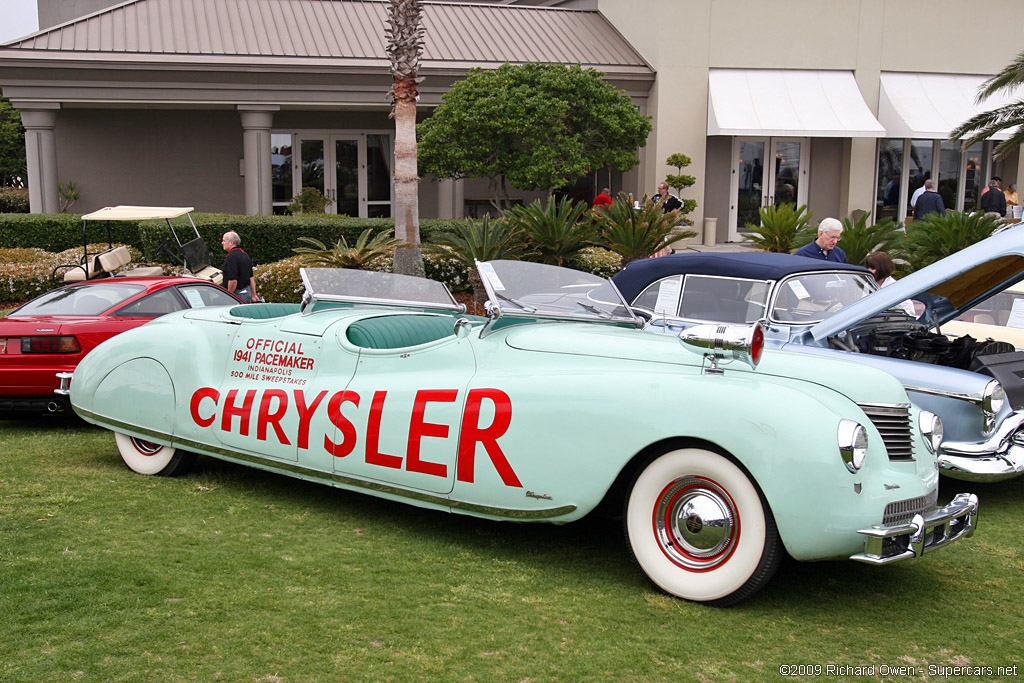
[[[477,262],[477,269],[499,315],[638,323],[604,278],[527,261]]]

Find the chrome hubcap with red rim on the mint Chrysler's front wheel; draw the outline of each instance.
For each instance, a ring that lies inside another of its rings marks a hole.
[[[683,477],[658,498],[654,532],[673,562],[690,569],[711,569],[732,554],[739,536],[739,514],[729,495],[714,481]]]

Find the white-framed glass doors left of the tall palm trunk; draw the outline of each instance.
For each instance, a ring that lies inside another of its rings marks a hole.
[[[289,136],[275,133],[271,139],[281,148],[286,137]],[[359,218],[391,215],[393,157],[390,135],[295,133],[291,138],[299,151],[298,156],[292,156],[293,197],[303,187],[315,187],[331,200],[327,213]],[[291,201],[291,197],[285,197],[284,188],[281,189],[274,189],[275,213],[279,209],[283,211]]]

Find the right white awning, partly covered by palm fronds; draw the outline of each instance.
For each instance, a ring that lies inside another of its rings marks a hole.
[[[996,93],[976,104],[978,88],[987,76],[883,72],[879,120],[888,137],[944,140],[949,131],[975,114],[997,109],[1015,98]],[[1005,140],[1011,131],[994,139]]]

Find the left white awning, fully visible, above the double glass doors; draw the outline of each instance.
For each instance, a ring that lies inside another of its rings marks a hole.
[[[709,135],[885,137],[853,72],[712,69]]]

